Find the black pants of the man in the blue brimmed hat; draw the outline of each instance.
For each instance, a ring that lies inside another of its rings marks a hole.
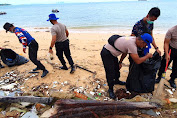
[[[55,43],[55,48],[56,48],[56,55],[58,56],[60,62],[62,65],[65,65],[66,62],[63,57],[63,53],[65,54],[69,64],[71,67],[74,65],[73,59],[71,57],[71,52],[69,48],[69,40],[67,39],[64,42],[56,42]]]

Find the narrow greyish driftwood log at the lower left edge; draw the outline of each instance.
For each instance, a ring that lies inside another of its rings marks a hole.
[[[53,101],[52,97],[33,97],[33,96],[1,97],[0,96],[0,102],[6,102],[6,103],[30,102],[30,103],[49,104],[52,101]]]

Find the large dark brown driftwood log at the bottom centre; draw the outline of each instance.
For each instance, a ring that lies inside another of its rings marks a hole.
[[[58,112],[51,118],[97,118],[158,107],[149,102],[98,102],[91,100],[58,100],[55,104],[58,106]]]

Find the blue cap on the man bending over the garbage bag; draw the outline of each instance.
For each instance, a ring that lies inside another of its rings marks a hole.
[[[152,43],[152,41],[153,41],[152,36],[151,36],[150,34],[148,34],[148,33],[144,33],[144,34],[141,35],[141,39],[142,39],[144,42],[147,43],[147,46],[148,46],[148,48],[150,49],[150,48],[151,48],[151,43]]]

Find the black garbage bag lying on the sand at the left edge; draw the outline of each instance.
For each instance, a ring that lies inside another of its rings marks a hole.
[[[22,65],[27,63],[29,60],[26,59],[23,56],[18,55],[11,49],[2,49],[0,52],[1,60],[4,64],[6,64],[9,67],[15,66],[15,65]]]

